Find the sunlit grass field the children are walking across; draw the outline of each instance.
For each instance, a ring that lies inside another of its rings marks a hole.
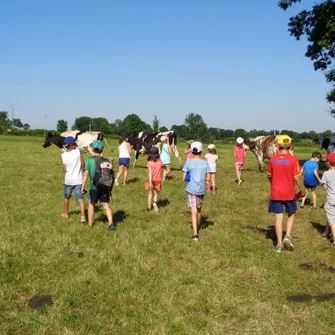
[[[325,213],[299,209],[295,250],[276,253],[269,183],[251,153],[237,186],[233,147],[218,147],[218,192],[205,197],[204,229],[194,242],[176,160],[157,214],[146,212],[140,158],[129,184],[114,187],[118,226],[110,232],[101,207],[93,229],[81,225],[74,199],[69,219],[60,218],[60,151],[42,144],[0,137],[0,334],[333,332],[335,250],[320,236]],[[117,157],[116,141],[109,144]],[[306,160],[315,149],[295,154]],[[321,205],[325,194],[317,192]],[[53,304],[31,309],[36,295]]]

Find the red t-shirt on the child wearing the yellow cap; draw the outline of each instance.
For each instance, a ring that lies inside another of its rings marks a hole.
[[[271,200],[290,201],[294,199],[296,194],[294,177],[301,174],[297,157],[290,154],[272,156],[266,173],[272,177]]]

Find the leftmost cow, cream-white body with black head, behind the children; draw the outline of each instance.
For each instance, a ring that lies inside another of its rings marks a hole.
[[[59,149],[65,150],[64,140],[68,136],[72,136],[76,139],[78,149],[80,150],[82,154],[89,152],[91,155],[93,155],[92,143],[95,140],[104,141],[109,147],[109,149],[112,151],[103,133],[98,132],[98,131],[95,132],[95,131],[79,131],[79,130],[65,131],[61,133],[60,135],[48,133],[47,136],[45,137],[43,148],[47,148],[47,147],[50,147],[51,144],[55,144]]]

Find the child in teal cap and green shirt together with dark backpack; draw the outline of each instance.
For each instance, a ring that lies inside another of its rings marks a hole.
[[[90,227],[93,227],[94,206],[100,201],[107,215],[108,229],[114,230],[116,226],[113,223],[113,213],[109,205],[114,183],[113,165],[108,159],[102,157],[104,150],[104,143],[102,141],[94,141],[92,149],[94,155],[86,161],[81,189],[82,193],[84,193],[86,181],[90,177],[88,224]]]

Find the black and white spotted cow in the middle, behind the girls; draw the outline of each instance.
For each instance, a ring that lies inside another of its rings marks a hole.
[[[162,136],[167,136],[169,139],[171,150],[178,159],[180,167],[182,167],[181,155],[177,148],[177,135],[173,130],[166,132],[141,132],[137,136],[130,136],[129,143],[135,150],[133,167],[136,165],[138,157],[146,155],[150,148],[157,147],[160,149],[160,139]]]

